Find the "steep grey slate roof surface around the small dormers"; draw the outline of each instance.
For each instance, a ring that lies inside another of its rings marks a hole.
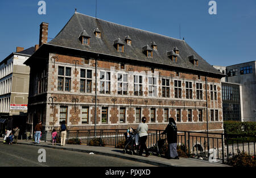
[[[82,45],[77,38],[82,30],[86,30],[90,38],[90,45]],[[96,38],[94,31],[101,31],[101,38]],[[124,45],[124,51],[118,52],[113,46],[114,40],[120,38],[125,39],[128,36],[133,39],[133,44]],[[144,55],[142,48],[151,42],[158,44],[158,51],[153,51],[152,58]],[[173,67],[188,68],[192,70],[204,71],[215,74],[222,74],[212,65],[207,63],[199,56],[184,40],[170,38],[168,36],[155,34],[140,30],[137,28],[127,27],[120,24],[107,22],[105,20],[93,18],[92,16],[75,13],[64,28],[57,36],[49,42],[52,45],[59,45],[68,48],[80,49],[93,53],[102,53],[105,55],[124,57],[127,59],[149,61]],[[170,60],[167,56],[167,51],[172,51],[174,48],[179,48],[177,62]],[[199,59],[199,65],[191,64],[188,56],[195,55]]]

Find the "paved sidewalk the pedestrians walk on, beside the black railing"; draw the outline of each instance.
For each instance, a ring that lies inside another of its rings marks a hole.
[[[2,144],[3,139],[0,139]],[[171,167],[229,167],[229,165],[221,164],[221,163],[210,163],[204,160],[192,159],[192,158],[180,158],[176,159],[166,159],[159,158],[158,156],[150,155],[147,158],[144,156],[138,155],[130,155],[123,154],[122,149],[113,148],[113,147],[93,147],[93,146],[84,146],[84,145],[76,145],[76,144],[65,144],[64,147],[60,145],[52,146],[50,142],[42,141],[40,144],[32,143],[32,140],[19,140],[18,144],[25,144],[30,146],[38,146],[38,147],[47,147],[47,148],[55,148],[60,150],[68,150],[68,151],[78,151],[78,152],[93,152],[97,155],[105,155],[105,156],[114,156],[117,158],[133,160],[136,162],[147,163],[156,166],[171,166]],[[15,146],[15,144],[13,144]]]

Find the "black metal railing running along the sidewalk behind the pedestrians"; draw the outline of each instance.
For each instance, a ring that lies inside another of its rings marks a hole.
[[[106,146],[117,147],[119,141],[125,140],[126,131],[126,129],[69,130],[66,143],[69,139],[75,139],[77,144],[80,142],[90,145],[92,139],[100,138]],[[160,135],[163,131],[148,130],[146,142],[148,148],[155,146],[159,139],[166,138],[166,135]],[[48,134],[51,135],[51,133]],[[47,133],[42,134],[42,140],[47,140]],[[190,158],[212,160],[213,162],[228,162],[230,156],[236,154],[238,150],[255,155],[255,142],[234,139],[234,135],[220,133],[208,133],[207,136],[205,132],[177,131],[177,145],[181,146],[184,153]]]

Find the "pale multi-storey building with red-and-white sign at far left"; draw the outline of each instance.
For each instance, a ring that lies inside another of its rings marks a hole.
[[[14,126],[26,130],[30,68],[23,63],[32,53],[34,47],[16,47],[0,63],[0,133]]]

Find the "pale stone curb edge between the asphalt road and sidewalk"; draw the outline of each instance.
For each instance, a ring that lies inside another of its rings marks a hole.
[[[20,142],[17,143],[17,144],[53,148],[53,149],[57,149],[57,150],[85,152],[85,153],[93,152],[96,155],[105,155],[105,156],[112,156],[112,157],[115,157],[115,158],[128,159],[128,160],[132,160],[132,161],[135,161],[135,162],[141,162],[141,163],[156,165],[156,166],[159,166],[159,167],[180,167],[179,165],[172,165],[172,164],[167,164],[167,163],[163,163],[163,162],[159,162],[159,161],[152,161],[152,160],[142,159],[142,158],[133,158],[133,157],[130,157],[130,156],[111,154],[111,153],[106,153],[106,152],[101,152],[101,151],[80,150],[80,149],[77,149],[77,148],[65,148],[65,147],[52,147],[52,146],[43,145],[43,144],[31,144],[31,143],[20,143]]]

